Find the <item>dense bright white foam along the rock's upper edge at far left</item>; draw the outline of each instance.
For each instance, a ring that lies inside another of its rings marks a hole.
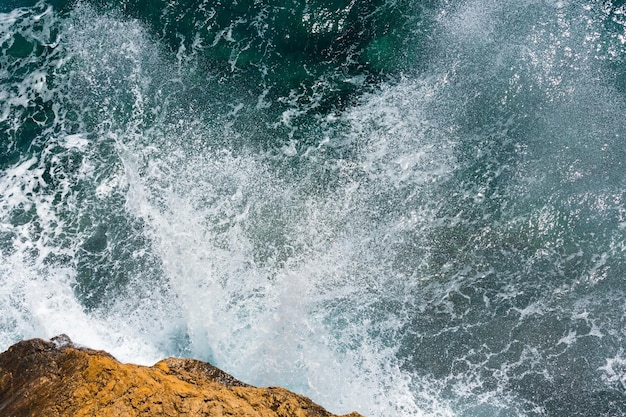
[[[64,333],[74,343],[106,350],[122,361],[140,359],[138,362],[147,365],[163,358],[165,352],[146,343],[145,335],[124,320],[85,312],[72,290],[72,269],[42,273],[16,258],[1,259],[1,350],[16,340],[49,339]]]

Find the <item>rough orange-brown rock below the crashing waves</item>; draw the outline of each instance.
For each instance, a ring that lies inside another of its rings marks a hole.
[[[333,416],[306,397],[244,384],[206,362],[122,364],[64,335],[22,341],[0,354],[0,415]]]

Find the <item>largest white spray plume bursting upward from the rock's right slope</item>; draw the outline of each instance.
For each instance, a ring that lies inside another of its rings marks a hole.
[[[287,386],[329,409],[386,415],[401,404],[419,415],[393,352],[359,340],[358,323],[349,325],[345,341],[325,323],[325,301],[347,296],[347,310],[355,302],[348,259],[341,259],[350,255],[318,235],[333,221],[324,216],[334,214],[320,209],[333,204],[294,195],[293,184],[251,156],[187,155],[176,162],[176,173],[142,179],[158,184],[158,204],[136,201],[144,193],[129,194],[129,204],[150,219],[192,355],[249,383]],[[160,189],[166,184],[171,188]],[[284,229],[272,230],[279,222]],[[304,235],[291,235],[293,229]],[[361,347],[344,345],[350,338]]]

